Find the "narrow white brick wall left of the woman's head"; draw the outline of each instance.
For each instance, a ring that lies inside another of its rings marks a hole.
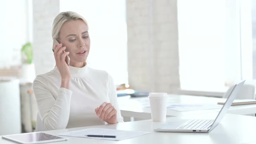
[[[52,24],[59,14],[59,0],[33,0],[33,46],[36,75],[49,72],[55,65]]]

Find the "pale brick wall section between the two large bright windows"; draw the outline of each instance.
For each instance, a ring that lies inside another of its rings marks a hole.
[[[132,88],[180,88],[177,0],[127,0],[128,78]]]

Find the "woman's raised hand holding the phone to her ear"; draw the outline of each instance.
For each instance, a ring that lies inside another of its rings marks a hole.
[[[58,46],[54,46],[54,58],[56,61],[56,66],[59,69],[59,73],[61,75],[62,86],[69,88],[69,79],[71,75],[70,75],[69,66],[65,61],[65,58],[66,56],[69,55],[69,52],[64,52],[65,49],[66,49],[66,46],[62,47],[62,44],[59,44]],[[67,85],[67,82],[68,82],[68,85]]]

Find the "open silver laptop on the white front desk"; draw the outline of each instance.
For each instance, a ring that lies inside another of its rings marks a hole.
[[[163,132],[210,132],[215,128],[220,121],[223,119],[224,115],[232,105],[236,95],[243,87],[245,81],[240,82],[233,86],[230,91],[226,102],[221,108],[219,114],[215,118],[215,120],[202,120],[202,119],[192,119],[192,120],[181,120],[178,122],[170,122],[161,126],[158,126],[154,129],[154,131],[163,131]]]

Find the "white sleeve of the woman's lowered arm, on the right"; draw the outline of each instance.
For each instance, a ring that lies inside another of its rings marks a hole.
[[[109,97],[110,103],[115,107],[117,111],[117,121],[124,122],[124,118],[121,116],[121,111],[119,109],[119,105],[117,101],[115,83],[112,76],[110,75],[108,75],[108,97]]]

